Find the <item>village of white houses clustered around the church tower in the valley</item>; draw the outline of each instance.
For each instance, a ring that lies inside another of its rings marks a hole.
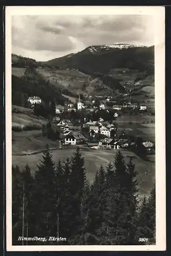
[[[128,94],[124,96],[128,99]],[[38,96],[29,97],[28,101],[32,108],[42,103]],[[123,148],[135,152],[138,148],[145,154],[155,154],[155,143],[148,136],[142,138],[129,133],[132,129],[127,129],[127,126],[132,124],[131,121],[121,128],[117,124],[118,118],[124,118],[124,115],[151,116],[151,110],[145,104],[141,105],[125,99],[114,101],[113,96],[85,95],[84,100],[79,97],[76,103],[56,105],[55,112],[52,123],[59,130],[61,149],[79,146],[94,150]]]

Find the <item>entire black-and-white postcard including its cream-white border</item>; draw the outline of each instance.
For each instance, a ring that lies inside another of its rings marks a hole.
[[[6,20],[9,250],[164,250],[164,8]]]

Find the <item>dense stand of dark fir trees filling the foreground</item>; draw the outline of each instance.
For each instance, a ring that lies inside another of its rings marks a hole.
[[[144,244],[140,238],[155,244],[155,187],[139,202],[136,176],[132,160],[126,163],[119,151],[90,183],[79,148],[55,164],[46,145],[36,170],[12,166],[13,245],[26,245],[20,236],[46,237],[44,245]],[[48,241],[50,236],[67,240]]]

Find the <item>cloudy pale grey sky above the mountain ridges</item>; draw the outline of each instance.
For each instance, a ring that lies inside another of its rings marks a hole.
[[[151,15],[15,15],[12,53],[46,61],[91,45],[154,45]]]

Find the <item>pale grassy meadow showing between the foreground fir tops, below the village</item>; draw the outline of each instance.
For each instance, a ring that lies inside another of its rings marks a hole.
[[[75,149],[55,150],[53,151],[53,159],[57,162],[59,159],[65,161],[67,157],[72,156]],[[139,192],[142,195],[148,195],[154,182],[155,177],[155,160],[143,161],[134,153],[129,151],[121,151],[125,156],[126,162],[129,157],[133,156],[133,162],[138,172],[137,181],[139,183]],[[102,151],[102,150],[82,150],[82,156],[85,159],[85,167],[87,177],[90,181],[93,180],[96,170],[103,165],[106,167],[108,163],[114,161],[117,150]],[[30,156],[12,156],[14,165],[19,165],[22,169],[27,163],[31,167],[32,172],[35,172],[37,163],[42,159],[42,153]]]

